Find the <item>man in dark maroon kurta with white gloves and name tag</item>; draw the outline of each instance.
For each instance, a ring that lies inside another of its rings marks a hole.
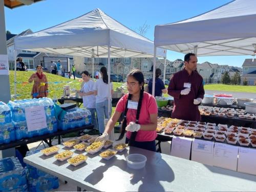
[[[196,72],[197,56],[188,53],[184,57],[185,68],[170,79],[168,94],[174,97],[172,118],[200,121],[198,105],[204,98],[203,78]]]

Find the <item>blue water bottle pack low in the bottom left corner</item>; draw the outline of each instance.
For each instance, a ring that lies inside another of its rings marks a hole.
[[[18,158],[0,160],[0,191],[28,191],[26,172]]]

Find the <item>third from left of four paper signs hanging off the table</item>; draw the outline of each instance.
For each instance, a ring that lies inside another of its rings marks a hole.
[[[214,146],[214,166],[237,171],[238,146],[224,143],[215,143]]]

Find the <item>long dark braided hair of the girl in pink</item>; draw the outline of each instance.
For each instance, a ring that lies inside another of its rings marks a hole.
[[[137,113],[136,113],[136,122],[135,122],[135,123],[138,124],[139,116],[140,116],[140,110],[141,110],[141,104],[142,104],[142,99],[143,99],[143,93],[144,93],[144,75],[140,70],[133,70],[127,76],[135,78],[137,81],[139,81],[139,84],[141,85],[140,98],[139,98],[139,103],[138,103],[138,108],[137,108]],[[132,94],[129,94],[128,98],[127,98],[127,101],[126,101],[125,110],[124,110],[124,120],[123,120],[123,123],[122,123],[122,130],[121,130],[121,134],[120,134],[118,140],[121,140],[124,136],[124,133],[125,133],[125,127],[126,127],[126,124],[127,124],[126,114],[127,114],[127,111],[128,111],[127,105],[128,105],[128,101],[131,100],[131,99],[132,99]],[[132,132],[130,142],[129,142],[130,146],[134,146],[136,135],[137,135],[137,132]]]

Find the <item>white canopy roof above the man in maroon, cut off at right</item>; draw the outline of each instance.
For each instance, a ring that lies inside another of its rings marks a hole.
[[[236,0],[181,22],[155,27],[155,46],[198,56],[253,55],[256,1]]]

